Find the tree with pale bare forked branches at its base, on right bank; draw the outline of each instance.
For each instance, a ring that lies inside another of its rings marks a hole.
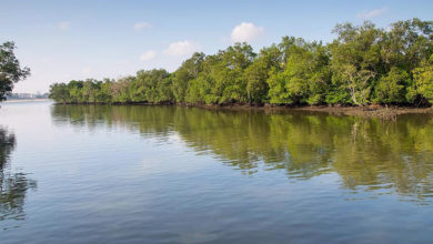
[[[381,63],[381,30],[365,21],[360,27],[338,24],[333,32],[338,34],[330,44],[333,82],[338,89],[344,89],[353,104],[366,104],[371,101],[373,81]]]

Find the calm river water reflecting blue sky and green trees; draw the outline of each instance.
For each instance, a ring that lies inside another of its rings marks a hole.
[[[433,118],[7,103],[1,243],[432,243]]]

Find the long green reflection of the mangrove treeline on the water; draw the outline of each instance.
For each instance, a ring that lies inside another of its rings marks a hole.
[[[180,106],[54,105],[59,126],[127,126],[144,136],[177,133],[246,174],[285,171],[308,180],[338,173],[351,191],[394,192],[411,200],[433,195],[433,118],[381,122],[322,113],[210,111]]]

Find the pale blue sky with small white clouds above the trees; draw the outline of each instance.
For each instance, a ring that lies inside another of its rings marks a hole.
[[[433,19],[432,0],[0,0],[0,42],[14,41],[31,77],[13,92],[48,92],[54,82],[174,71],[193,52],[234,42],[255,51],[284,35],[330,42],[336,23],[386,28]]]

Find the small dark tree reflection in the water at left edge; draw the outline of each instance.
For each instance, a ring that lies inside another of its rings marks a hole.
[[[14,134],[0,128],[0,221],[24,220],[26,194],[36,190],[37,182],[24,173],[12,173],[9,157],[16,146]],[[3,226],[8,228],[8,226]]]

